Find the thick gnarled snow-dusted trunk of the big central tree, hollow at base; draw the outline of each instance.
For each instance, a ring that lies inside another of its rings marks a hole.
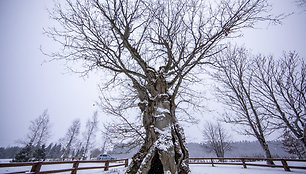
[[[174,99],[167,94],[166,84],[160,79],[149,91],[151,96],[139,97],[145,143],[134,155],[126,173],[188,173],[189,155],[183,129],[175,117]]]

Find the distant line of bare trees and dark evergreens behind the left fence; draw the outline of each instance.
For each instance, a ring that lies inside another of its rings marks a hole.
[[[103,150],[93,149],[93,140],[98,128],[97,112],[86,123],[79,137],[81,123],[74,120],[65,136],[58,143],[46,145],[50,139],[50,123],[48,110],[32,120],[27,135],[19,140],[21,147],[1,147],[0,158],[13,159],[13,162],[45,161],[46,159],[67,160],[96,157]],[[104,143],[105,146],[105,143]],[[101,149],[104,149],[103,147]]]

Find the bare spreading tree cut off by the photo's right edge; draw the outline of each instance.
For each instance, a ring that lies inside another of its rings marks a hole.
[[[306,65],[297,53],[275,60],[258,56],[254,87],[274,129],[289,130],[306,147]]]

